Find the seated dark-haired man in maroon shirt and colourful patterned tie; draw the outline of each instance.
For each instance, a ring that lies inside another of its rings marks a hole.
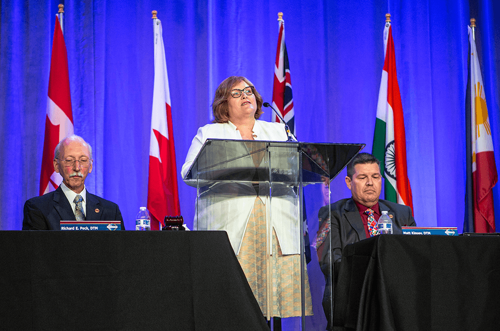
[[[326,278],[323,308],[328,328],[329,277],[330,273],[338,272],[338,267],[331,269],[330,256],[331,263],[336,266],[342,259],[342,250],[346,245],[376,235],[377,227],[375,225],[373,229],[371,223],[378,221],[382,211],[387,211],[392,220],[393,234],[402,234],[402,226],[416,226],[408,206],[379,199],[382,187],[380,161],[373,155],[359,153],[349,162],[345,184],[351,191],[352,198],[321,207],[318,212],[319,231],[315,247],[321,271]]]

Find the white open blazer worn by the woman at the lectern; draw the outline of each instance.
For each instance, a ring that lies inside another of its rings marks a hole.
[[[284,124],[282,123],[255,120],[253,133],[256,135],[255,140],[287,140]],[[184,165],[182,166],[182,178],[185,178],[201,146],[209,138],[242,139],[241,134],[236,130],[236,126],[231,122],[207,124],[200,127],[196,136],[192,139]],[[188,184],[193,185],[192,182]],[[267,199],[264,197],[261,197],[261,199],[266,206],[267,215],[270,214],[271,224],[276,231],[282,253],[284,255],[299,254],[301,236],[300,221],[298,218],[298,195],[293,195],[292,188],[285,189],[291,192],[291,194],[273,197],[270,204],[272,205],[272,209],[269,208]],[[224,184],[224,186],[221,186],[218,194],[207,195],[197,199],[195,204],[194,229],[226,231],[232,248],[237,255],[246,224],[253,209],[255,197],[255,190],[251,184]]]

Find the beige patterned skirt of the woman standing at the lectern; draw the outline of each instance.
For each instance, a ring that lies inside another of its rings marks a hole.
[[[272,266],[272,307],[269,317],[301,316],[300,256],[283,255],[276,232],[272,230],[272,256],[266,261],[265,206],[259,197],[246,226],[237,256],[253,295],[264,316],[267,311],[267,268]],[[312,315],[309,280],[305,269],[305,315]]]

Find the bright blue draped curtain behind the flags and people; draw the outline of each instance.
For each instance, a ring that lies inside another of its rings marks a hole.
[[[38,194],[47,84],[59,1],[1,0],[0,229],[21,228]],[[248,77],[271,101],[277,12],[284,12],[297,135],[301,141],[365,143],[371,151],[392,19],[406,128],[414,216],[421,226],[456,226],[465,196],[467,24],[477,19],[496,165],[500,165],[499,1],[65,1],[74,132],[94,149],[87,188],[116,202],[125,227],[147,196],[153,87],[151,10],[163,25],[177,169],[229,75]],[[262,116],[270,120],[270,112]],[[331,200],[350,196],[345,170]],[[179,175],[181,212],[192,224],[195,189]],[[494,188],[500,226],[500,185]],[[308,210],[316,219],[317,210]]]

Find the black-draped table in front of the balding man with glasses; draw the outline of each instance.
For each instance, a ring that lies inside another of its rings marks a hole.
[[[1,330],[269,330],[225,232],[0,231]]]

